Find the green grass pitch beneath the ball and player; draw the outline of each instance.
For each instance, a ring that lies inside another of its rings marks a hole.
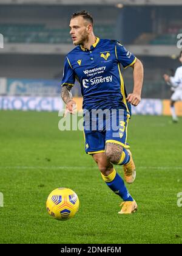
[[[58,113],[1,111],[0,119],[0,243],[182,243],[182,119],[132,117],[136,180],[127,188],[138,212],[127,216],[118,215],[120,197],[85,154],[83,132],[60,132]],[[79,196],[79,212],[69,221],[45,210],[58,187]]]

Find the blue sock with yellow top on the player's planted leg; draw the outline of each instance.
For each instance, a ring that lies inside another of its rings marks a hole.
[[[115,193],[120,196],[123,201],[133,201],[132,196],[130,196],[129,191],[124,185],[123,179],[118,175],[113,169],[113,171],[109,174],[109,176],[104,176],[101,174],[103,177],[104,182],[106,182],[107,186]]]

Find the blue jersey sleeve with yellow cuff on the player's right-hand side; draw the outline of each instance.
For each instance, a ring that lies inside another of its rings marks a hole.
[[[116,43],[116,58],[118,62],[121,63],[123,68],[127,68],[128,66],[132,66],[136,62],[136,57],[131,52],[127,51],[127,49],[120,44],[119,42]]]

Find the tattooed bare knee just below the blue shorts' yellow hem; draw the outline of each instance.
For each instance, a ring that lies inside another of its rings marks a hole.
[[[116,143],[106,143],[105,154],[109,161],[113,164],[117,164],[121,160],[121,154],[123,147]]]

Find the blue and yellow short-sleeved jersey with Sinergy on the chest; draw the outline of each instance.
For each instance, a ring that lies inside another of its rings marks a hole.
[[[83,109],[123,108],[129,112],[120,63],[127,68],[135,61],[136,57],[118,41],[96,38],[90,50],[76,46],[67,54],[62,86],[79,81]]]

